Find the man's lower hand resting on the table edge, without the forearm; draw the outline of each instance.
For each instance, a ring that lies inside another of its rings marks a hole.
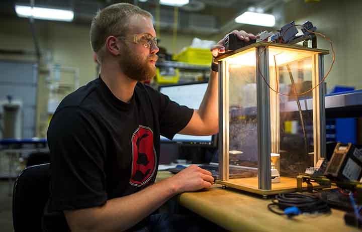
[[[191,165],[169,179],[172,179],[177,193],[210,188],[214,183],[214,177],[212,177],[211,172],[197,165]]]

